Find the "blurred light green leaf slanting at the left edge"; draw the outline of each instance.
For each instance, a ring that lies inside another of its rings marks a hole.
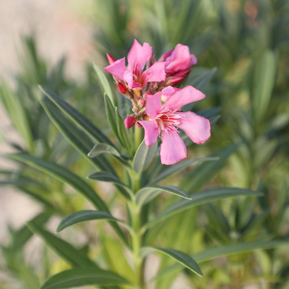
[[[32,153],[35,149],[32,131],[20,97],[14,94],[4,81],[1,83],[0,97],[14,126],[21,134],[29,152]]]

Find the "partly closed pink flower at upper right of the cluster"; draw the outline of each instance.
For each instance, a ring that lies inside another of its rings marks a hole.
[[[179,43],[175,49],[164,53],[159,61],[171,61],[166,67],[166,73],[173,75],[192,67],[197,63],[197,58],[194,54],[190,54],[190,49],[187,45]]]

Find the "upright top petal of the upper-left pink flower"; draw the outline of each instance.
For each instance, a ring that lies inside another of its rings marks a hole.
[[[132,71],[134,71],[135,68],[142,71],[144,65],[152,54],[153,48],[149,46],[149,43],[144,42],[141,46],[138,40],[135,39],[129,53],[127,54],[128,68]]]

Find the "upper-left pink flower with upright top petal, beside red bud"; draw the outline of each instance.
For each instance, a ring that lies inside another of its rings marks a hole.
[[[152,55],[153,48],[148,43],[144,42],[141,46],[135,39],[127,54],[127,67],[125,66],[125,57],[112,62],[113,57],[109,55],[110,65],[104,69],[121,81],[126,82],[130,89],[140,90],[147,82],[162,81],[166,78],[165,68],[170,61],[156,61],[142,72],[146,62]]]

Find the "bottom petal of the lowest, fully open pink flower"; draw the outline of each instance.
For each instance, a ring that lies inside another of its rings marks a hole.
[[[187,148],[177,131],[162,131],[161,162],[170,165],[185,159]]]

